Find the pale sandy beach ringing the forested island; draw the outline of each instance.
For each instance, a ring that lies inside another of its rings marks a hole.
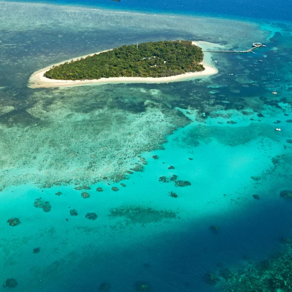
[[[194,45],[200,46],[200,43],[205,42],[192,42]],[[110,50],[93,53],[89,55],[82,56],[83,58],[87,56],[92,56],[95,54],[100,54],[103,52],[107,52]],[[73,61],[80,59],[81,57],[73,58]],[[72,59],[71,59],[72,60]],[[55,66],[58,66],[60,64],[63,64],[65,62],[70,62],[71,60],[63,61],[57,64],[54,64]],[[44,76],[44,73],[50,70],[53,65],[48,66],[46,68],[43,68],[41,70],[38,70],[37,72],[33,73],[31,77],[29,78],[28,87],[29,88],[56,88],[56,87],[67,87],[67,86],[82,86],[82,85],[90,85],[90,84],[107,84],[107,83],[167,83],[167,82],[174,82],[184,79],[190,79],[190,78],[202,78],[207,77],[210,75],[214,75],[218,73],[217,68],[212,66],[211,64],[205,62],[205,58],[203,62],[201,63],[205,70],[201,72],[192,72],[192,73],[185,73],[175,76],[169,76],[169,77],[110,77],[110,78],[100,78],[100,79],[92,79],[92,80],[55,80],[55,79],[49,79]]]

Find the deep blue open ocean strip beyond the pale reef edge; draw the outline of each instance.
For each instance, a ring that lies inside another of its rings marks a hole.
[[[148,13],[174,13],[213,17],[227,16],[282,21],[292,20],[291,0],[121,0],[120,2],[112,0],[27,0],[24,2],[57,3],[77,6],[86,5],[91,7]]]

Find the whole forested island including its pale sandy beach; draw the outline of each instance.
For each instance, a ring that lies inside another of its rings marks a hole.
[[[29,87],[170,82],[217,73],[216,68],[203,65],[203,56],[197,43],[186,40],[124,45],[37,71],[31,76]]]

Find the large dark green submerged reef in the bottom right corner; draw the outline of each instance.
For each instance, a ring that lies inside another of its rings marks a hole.
[[[291,292],[292,241],[285,240],[283,250],[259,263],[219,273],[220,291],[224,292]]]

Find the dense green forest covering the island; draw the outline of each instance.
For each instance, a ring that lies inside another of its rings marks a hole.
[[[203,71],[201,48],[191,41],[158,41],[122,46],[108,52],[66,62],[44,76],[60,80],[102,77],[165,77]]]

